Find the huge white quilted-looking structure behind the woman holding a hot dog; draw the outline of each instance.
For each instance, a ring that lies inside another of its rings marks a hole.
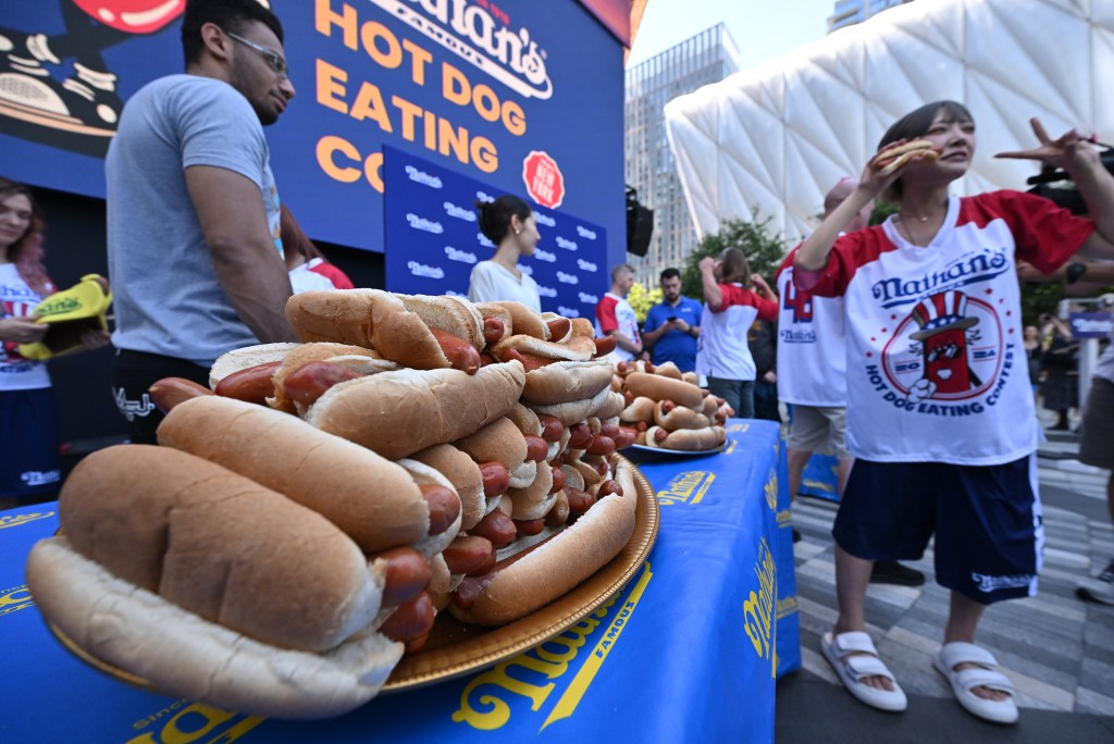
[[[921,0],[665,106],[688,209],[703,236],[729,217],[773,217],[793,245],[823,195],[858,176],[878,140],[922,104],[975,117],[975,161],[958,194],[1027,188],[1030,117],[1114,141],[1114,0]]]

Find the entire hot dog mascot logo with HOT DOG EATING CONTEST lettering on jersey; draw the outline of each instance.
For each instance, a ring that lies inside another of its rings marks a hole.
[[[867,364],[866,373],[886,401],[907,411],[979,413],[984,403],[998,401],[1013,368],[1015,344],[1005,341],[994,307],[958,290],[921,300],[892,332],[879,327],[876,333],[892,335],[880,363]],[[962,403],[984,394],[985,401]]]

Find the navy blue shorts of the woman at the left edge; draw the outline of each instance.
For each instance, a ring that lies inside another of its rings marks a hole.
[[[58,408],[55,391],[0,392],[0,497],[49,496],[58,490]]]

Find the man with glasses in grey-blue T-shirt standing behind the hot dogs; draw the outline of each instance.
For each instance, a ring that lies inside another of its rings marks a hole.
[[[133,441],[155,440],[156,380],[207,385],[221,354],[293,340],[263,135],[294,97],[282,45],[258,0],[188,0],[185,75],[148,84],[124,108],[105,167],[113,394]]]

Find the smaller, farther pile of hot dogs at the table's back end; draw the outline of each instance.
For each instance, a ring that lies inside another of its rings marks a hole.
[[[726,441],[724,423],[734,411],[722,398],[707,395],[695,372],[673,362],[620,362],[616,374],[627,402],[619,413],[624,427],[637,434],[635,443],[686,452],[714,450]]]

